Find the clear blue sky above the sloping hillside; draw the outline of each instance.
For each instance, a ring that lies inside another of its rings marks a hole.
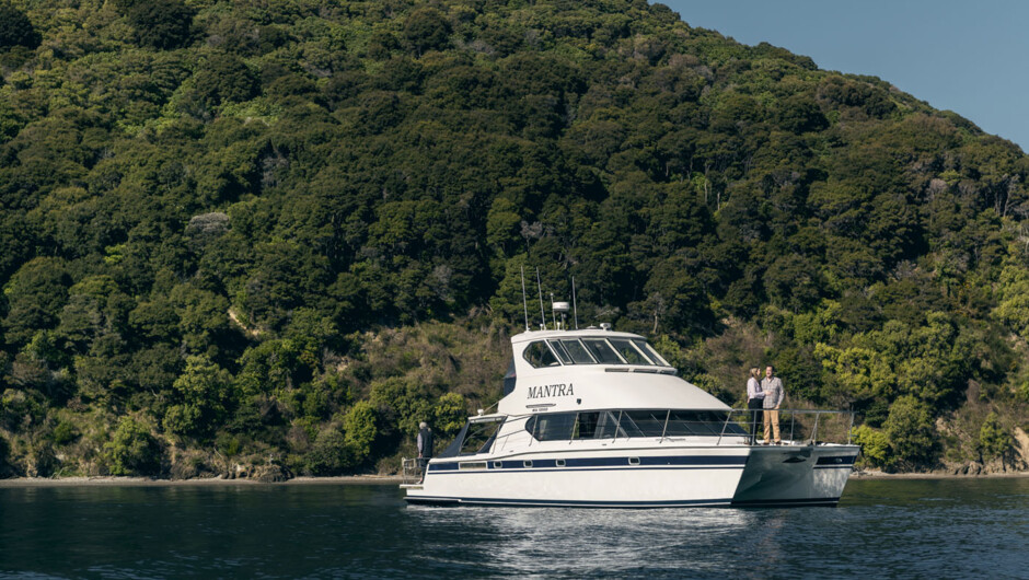
[[[1029,147],[1029,2],[664,0],[691,26],[871,74]]]

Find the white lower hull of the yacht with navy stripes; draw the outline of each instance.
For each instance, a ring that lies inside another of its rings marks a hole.
[[[853,445],[626,448],[479,455],[433,460],[424,484],[405,488],[409,503],[443,506],[834,506],[856,455]],[[839,460],[829,464],[823,457]]]

